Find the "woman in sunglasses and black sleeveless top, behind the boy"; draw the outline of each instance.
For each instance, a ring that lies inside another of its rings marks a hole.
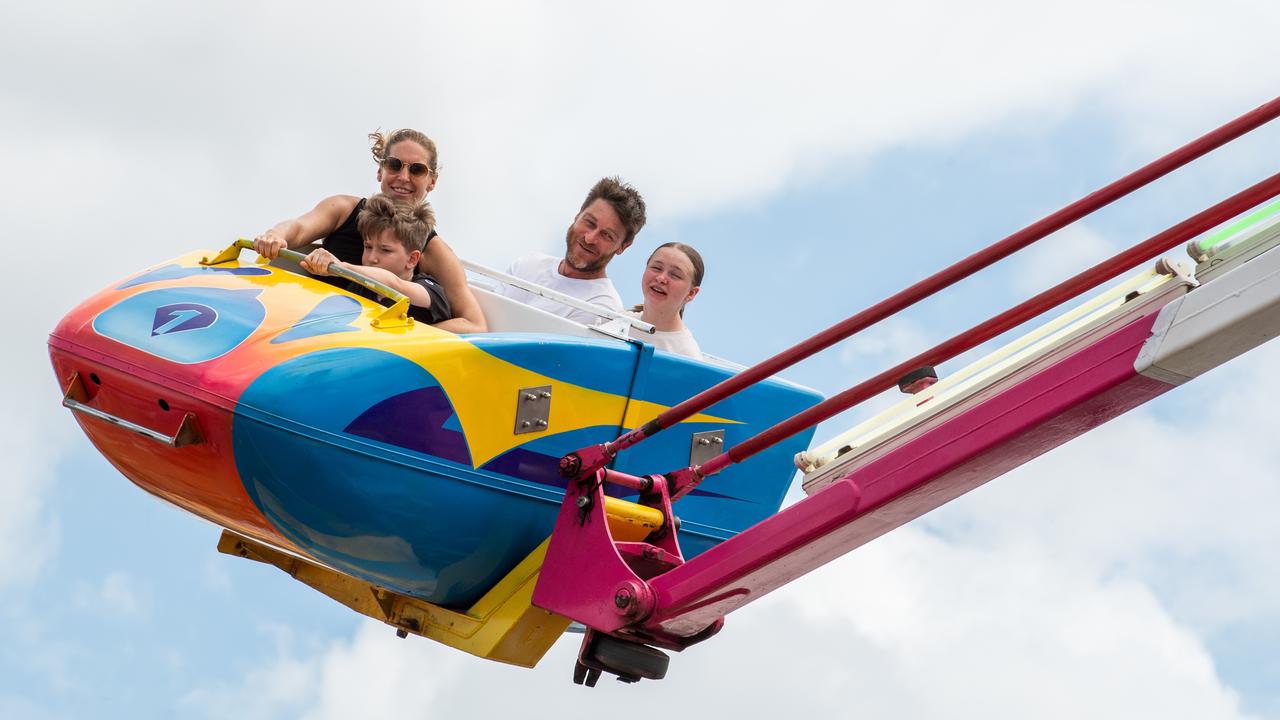
[[[369,140],[383,193],[396,202],[422,202],[439,178],[435,142],[410,128],[387,135],[372,132]],[[364,205],[365,199],[353,195],[325,197],[310,211],[255,237],[253,249],[265,258],[275,258],[282,249],[298,249],[320,240],[324,249],[343,263],[360,265],[365,245],[356,229],[356,218]],[[488,329],[484,311],[467,286],[462,263],[434,229],[422,249],[419,269],[439,281],[453,307],[453,319],[435,327],[456,333]]]

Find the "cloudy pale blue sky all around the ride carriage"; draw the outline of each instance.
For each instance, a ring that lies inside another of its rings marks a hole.
[[[461,255],[556,251],[621,174],[650,217],[623,300],[646,247],[694,245],[687,323],[758,361],[1271,100],[1277,26],[1243,0],[4,3],[0,717],[1280,717],[1275,346],[591,691],[577,637],[490,664],[219,555],[92,450],[45,347],[127,274],[372,192],[365,135],[410,126]],[[1256,131],[785,375],[838,392],[1277,156]]]

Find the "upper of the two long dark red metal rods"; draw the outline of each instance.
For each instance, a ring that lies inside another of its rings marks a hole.
[[[818,334],[815,334],[815,336],[805,340],[804,342],[800,342],[799,345],[795,345],[794,347],[791,347],[788,350],[785,350],[785,351],[774,355],[773,357],[769,357],[768,360],[764,360],[764,361],[762,361],[762,363],[759,363],[756,365],[753,365],[751,368],[748,368],[746,370],[742,370],[741,373],[739,373],[739,374],[736,374],[736,375],[733,375],[733,377],[731,377],[731,378],[728,378],[728,379],[726,379],[726,380],[723,380],[723,382],[721,382],[721,383],[718,383],[718,384],[716,384],[716,386],[713,386],[713,387],[710,387],[710,388],[708,388],[708,389],[705,389],[705,391],[695,395],[694,397],[690,397],[689,400],[686,400],[686,401],[684,401],[684,402],[681,402],[681,404],[678,404],[678,405],[676,405],[673,407],[669,407],[668,410],[663,411],[662,414],[659,414],[653,420],[650,420],[650,421],[640,425],[639,428],[635,428],[635,429],[625,433],[623,436],[618,437],[617,439],[611,441],[611,442],[605,442],[605,443],[600,443],[600,445],[595,445],[595,446],[584,447],[584,448],[579,450],[577,452],[566,455],[562,459],[562,461],[561,461],[561,471],[566,477],[571,477],[571,478],[584,477],[584,475],[586,475],[589,473],[593,473],[593,471],[595,471],[595,470],[605,466],[614,456],[617,456],[617,454],[620,451],[626,450],[627,447],[631,447],[631,446],[636,445],[637,442],[643,441],[644,438],[652,437],[653,434],[657,434],[658,432],[660,432],[660,430],[663,430],[666,428],[669,428],[671,425],[675,425],[675,424],[677,424],[680,421],[684,421],[684,420],[694,416],[695,414],[707,410],[708,407],[710,407],[712,405],[719,402],[721,400],[724,400],[726,397],[728,397],[728,396],[739,392],[740,389],[744,389],[744,388],[746,388],[749,386],[753,386],[753,384],[755,384],[755,383],[758,383],[758,382],[760,382],[760,380],[763,380],[765,378],[769,378],[769,377],[774,375],[776,373],[778,373],[780,370],[790,368],[791,365],[795,365],[796,363],[799,363],[799,361],[801,361],[801,360],[804,360],[804,359],[806,359],[806,357],[809,357],[809,356],[812,356],[812,355],[814,355],[814,354],[817,354],[817,352],[819,352],[822,350],[826,350],[826,348],[831,347],[832,345],[835,345],[835,343],[837,343],[837,342],[840,342],[842,340],[846,340],[850,336],[852,336],[852,334],[855,334],[855,333],[858,333],[858,332],[860,332],[860,331],[863,331],[863,329],[865,329],[865,328],[868,328],[868,327],[870,327],[870,325],[873,325],[873,324],[876,324],[876,323],[878,323],[878,322],[881,322],[881,320],[891,316],[891,315],[895,315],[895,314],[905,310],[906,307],[910,307],[911,305],[919,302],[920,300],[924,300],[925,297],[929,297],[931,295],[934,295],[938,291],[945,290],[945,288],[947,288],[947,287],[950,287],[950,286],[960,282],[964,278],[968,278],[969,275],[977,273],[978,270],[982,270],[982,269],[984,269],[984,268],[987,268],[987,266],[989,266],[989,265],[992,265],[992,264],[995,264],[995,263],[997,263],[997,261],[1007,258],[1009,255],[1012,255],[1014,252],[1016,252],[1016,251],[1019,251],[1019,250],[1021,250],[1021,249],[1024,249],[1024,247],[1027,247],[1027,246],[1029,246],[1029,245],[1032,245],[1032,243],[1034,243],[1034,242],[1037,242],[1037,241],[1047,237],[1048,234],[1052,234],[1053,232],[1057,232],[1057,231],[1062,229],[1064,227],[1066,227],[1066,225],[1074,223],[1075,220],[1079,220],[1080,218],[1083,218],[1083,217],[1085,217],[1085,215],[1088,215],[1088,214],[1098,210],[1100,208],[1110,205],[1111,202],[1114,202],[1114,201],[1116,201],[1116,200],[1119,200],[1119,199],[1129,195],[1130,192],[1138,190],[1139,187],[1143,187],[1143,186],[1146,186],[1146,184],[1148,184],[1148,183],[1151,183],[1151,182],[1153,182],[1153,181],[1156,181],[1156,179],[1158,179],[1158,178],[1161,178],[1161,177],[1171,173],[1172,170],[1175,170],[1175,169],[1185,165],[1187,163],[1190,163],[1192,160],[1194,160],[1197,158],[1201,158],[1204,154],[1207,154],[1207,152],[1210,152],[1210,151],[1212,151],[1212,150],[1215,150],[1217,147],[1221,147],[1222,145],[1225,145],[1225,143],[1228,143],[1228,142],[1230,142],[1230,141],[1240,137],[1242,135],[1244,135],[1244,133],[1247,133],[1247,132],[1249,132],[1252,129],[1256,129],[1256,128],[1258,128],[1258,127],[1261,127],[1261,126],[1263,126],[1263,124],[1274,120],[1277,117],[1280,117],[1280,97],[1276,97],[1276,99],[1271,100],[1270,102],[1266,102],[1266,104],[1263,104],[1263,105],[1261,105],[1261,106],[1251,110],[1249,113],[1245,113],[1245,114],[1240,115],[1239,118],[1236,118],[1236,119],[1234,119],[1234,120],[1231,120],[1231,122],[1229,122],[1229,123],[1219,127],[1217,129],[1215,129],[1215,131],[1212,131],[1212,132],[1210,132],[1210,133],[1207,133],[1207,135],[1204,135],[1204,136],[1202,136],[1202,137],[1199,137],[1199,138],[1197,138],[1197,140],[1194,140],[1194,141],[1192,141],[1192,142],[1189,142],[1189,143],[1187,143],[1187,145],[1184,145],[1184,146],[1174,150],[1172,152],[1169,152],[1167,155],[1160,158],[1158,160],[1155,160],[1153,163],[1149,163],[1147,165],[1144,165],[1143,168],[1139,168],[1138,170],[1134,170],[1133,173],[1130,173],[1130,174],[1128,174],[1128,176],[1125,176],[1125,177],[1123,177],[1123,178],[1120,178],[1120,179],[1117,179],[1117,181],[1115,181],[1115,182],[1112,182],[1112,183],[1110,183],[1110,184],[1107,184],[1107,186],[1105,186],[1105,187],[1102,187],[1100,190],[1096,190],[1094,192],[1091,192],[1089,195],[1085,195],[1080,200],[1076,200],[1075,202],[1071,202],[1070,205],[1062,208],[1061,210],[1057,210],[1056,213],[1052,213],[1052,214],[1042,218],[1041,220],[1037,220],[1036,223],[1032,223],[1032,224],[1027,225],[1025,228],[1023,228],[1023,229],[1020,229],[1020,231],[1010,234],[1009,237],[1006,237],[1006,238],[1004,238],[1004,240],[1001,240],[1001,241],[998,241],[998,242],[996,242],[996,243],[993,243],[993,245],[991,245],[991,246],[988,246],[988,247],[986,247],[986,249],[983,249],[983,250],[980,250],[980,251],[970,255],[969,258],[965,258],[964,260],[961,260],[959,263],[955,263],[954,265],[951,265],[948,268],[945,268],[945,269],[934,273],[933,275],[929,275],[928,278],[925,278],[925,279],[923,279],[923,281],[913,284],[911,287],[908,287],[906,290],[902,290],[902,291],[897,292],[896,295],[892,295],[892,296],[887,297],[886,300],[882,300],[881,302],[878,302],[876,305],[872,305],[870,307],[863,310],[861,313],[858,313],[858,314],[855,314],[855,315],[852,315],[852,316],[842,320],[841,323],[827,328],[826,331],[823,331],[823,332],[820,332],[820,333],[818,333]],[[1270,181],[1267,181],[1267,182],[1270,182]],[[1254,188],[1256,187],[1257,186],[1254,186]],[[1251,190],[1253,190],[1253,188],[1251,188]],[[1245,192],[1249,192],[1249,191],[1245,191]],[[1236,196],[1236,197],[1239,197],[1239,196]],[[1267,196],[1267,197],[1270,197],[1270,196]],[[1230,200],[1224,201],[1224,204],[1226,204],[1226,202],[1230,202]],[[1258,202],[1258,201],[1254,201],[1254,204],[1256,202]],[[1231,204],[1231,206],[1236,206],[1236,205]],[[1245,205],[1240,210],[1236,210],[1236,213],[1243,211],[1243,209],[1247,209],[1248,206],[1249,205]],[[1217,208],[1217,206],[1215,206],[1215,208]],[[1210,210],[1206,210],[1206,213],[1210,213]],[[1202,215],[1203,215],[1203,213],[1202,213]],[[1228,215],[1228,218],[1229,217],[1230,215]],[[1188,220],[1188,222],[1190,222],[1190,220]],[[1217,222],[1221,222],[1221,220],[1217,220]],[[1210,227],[1212,227],[1212,224],[1213,223],[1211,223]],[[1180,225],[1176,225],[1176,227],[1180,227]],[[1174,228],[1170,228],[1170,231],[1171,229],[1174,229]],[[1166,231],[1166,232],[1169,232],[1169,231]],[[1161,234],[1165,234],[1165,233],[1161,233]],[[1196,234],[1196,233],[1190,233],[1190,234],[1180,236],[1180,237],[1183,237],[1183,240],[1187,240],[1192,234]],[[1160,236],[1157,236],[1157,237],[1160,237]],[[1167,250],[1167,249],[1165,249],[1165,250]],[[1164,250],[1161,250],[1161,251],[1164,251]],[[1100,281],[1100,282],[1102,282],[1102,281]],[[1093,286],[1089,286],[1089,287],[1093,287]],[[1041,296],[1037,296],[1037,297],[1041,297]],[[1071,297],[1071,296],[1068,296],[1068,297]],[[1066,300],[1066,297],[1064,297],[1064,300]],[[1062,300],[1060,300],[1059,302],[1061,302],[1061,301]],[[1051,306],[1052,305],[1047,305],[1046,307],[1051,307]],[[978,329],[978,328],[974,328],[974,329]],[[920,357],[925,357],[925,356],[920,356]],[[911,365],[911,363],[915,363],[915,364]],[[899,368],[904,368],[902,372],[899,373],[899,377],[900,377],[901,373],[910,372],[910,370],[915,369],[916,366],[919,366],[920,364],[928,364],[928,363],[927,361],[922,363],[922,361],[918,361],[918,359],[913,359],[913,360],[910,360],[908,363],[904,363],[902,365],[899,365],[897,368],[895,368],[892,370],[887,370],[884,373],[884,375],[892,374]],[[872,380],[868,380],[868,383],[872,383],[873,380],[877,380],[881,377],[882,375],[877,375],[877,378],[872,378]],[[897,379],[897,377],[892,378],[893,382],[896,382],[896,379]],[[846,391],[846,393],[841,393],[837,397],[846,397],[846,395],[849,392],[852,392],[852,389],[863,388],[868,383],[863,383],[861,386],[858,386],[858,388],[851,388],[850,391]],[[861,391],[859,391],[858,395],[861,395]],[[869,397],[870,395],[872,393],[867,395],[865,397]],[[832,400],[835,400],[835,398],[832,398]],[[823,405],[826,405],[826,404],[823,404]],[[815,406],[814,409],[810,409],[809,413],[813,413],[813,410],[815,410],[817,407],[820,407],[820,406],[822,405]],[[810,416],[809,414],[803,414],[803,415]],[[813,420],[809,424],[815,424],[818,421],[820,421],[820,419],[819,420]],[[805,427],[809,427],[809,425],[805,424],[805,425],[801,425],[801,427],[794,427],[794,424],[788,424],[788,428],[794,428],[794,429],[790,430],[790,433],[799,432],[800,429],[804,429]],[[756,437],[760,437],[760,436],[756,436]],[[782,436],[782,437],[786,437],[786,436]],[[755,439],[755,438],[753,438],[753,439]],[[777,442],[777,439],[781,439],[781,437],[773,439],[772,442]],[[750,442],[750,441],[748,441],[748,442]],[[772,442],[771,442],[771,445],[772,445]],[[746,455],[742,455],[744,447],[745,447],[745,443],[744,445],[739,445],[731,452],[737,454],[736,456],[739,459],[745,457]],[[768,447],[768,446],[765,445],[763,447]],[[756,448],[755,451],[759,451],[759,448]],[[713,460],[713,462],[714,462],[714,460]],[[704,468],[705,466],[707,465],[704,465]],[[721,464],[719,466],[722,468],[723,464]]]

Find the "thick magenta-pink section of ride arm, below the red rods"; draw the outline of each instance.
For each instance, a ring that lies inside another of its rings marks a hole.
[[[726,612],[1170,389],[1133,369],[1155,319],[1156,313],[1134,319],[652,579],[657,606],[641,628],[692,635]]]

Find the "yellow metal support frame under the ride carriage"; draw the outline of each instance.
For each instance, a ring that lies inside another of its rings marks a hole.
[[[617,541],[640,541],[662,527],[662,512],[605,498],[609,530]],[[543,568],[543,541],[465,612],[390,592],[324,565],[223,530],[219,552],[274,565],[356,612],[442,642],[471,655],[532,667],[568,626],[568,618],[532,606]]]

